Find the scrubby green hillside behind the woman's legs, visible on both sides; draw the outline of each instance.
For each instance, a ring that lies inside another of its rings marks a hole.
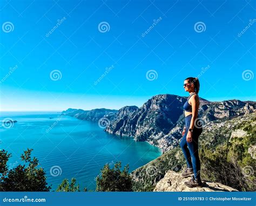
[[[248,149],[256,144],[255,113],[240,116],[221,125],[214,122],[200,135],[199,155],[203,180],[220,182],[239,191],[255,191],[256,160]],[[231,134],[246,132],[241,138]],[[255,158],[255,157],[254,157]],[[186,165],[180,147],[171,149],[145,166],[132,171],[134,191],[153,191],[167,170],[180,171]]]

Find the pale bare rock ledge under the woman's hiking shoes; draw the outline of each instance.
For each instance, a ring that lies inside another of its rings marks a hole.
[[[189,181],[191,177],[182,177],[181,173],[169,170],[154,188],[153,191],[238,191],[218,182],[205,182],[203,187],[189,188],[184,182]]]

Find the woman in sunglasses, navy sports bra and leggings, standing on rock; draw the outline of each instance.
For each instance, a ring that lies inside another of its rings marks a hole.
[[[184,104],[185,110],[185,127],[183,129],[183,138],[180,141],[180,147],[183,150],[187,168],[182,174],[183,177],[190,176],[190,181],[185,182],[188,187],[201,187],[203,185],[200,178],[200,160],[198,154],[198,138],[202,133],[202,127],[197,123],[199,109],[199,80],[198,78],[189,77],[184,80],[185,91],[190,93],[190,97]]]

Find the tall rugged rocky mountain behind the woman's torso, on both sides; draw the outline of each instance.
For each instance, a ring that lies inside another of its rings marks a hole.
[[[176,147],[184,126],[183,105],[186,97],[172,94],[153,96],[137,109],[123,113],[119,111],[105,131],[111,134],[131,136],[136,141],[147,141],[166,150]],[[252,113],[256,102],[227,100],[210,102],[200,98],[199,118],[201,123],[225,121],[235,116]]]

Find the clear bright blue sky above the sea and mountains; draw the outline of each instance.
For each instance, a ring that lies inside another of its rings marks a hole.
[[[255,9],[255,1],[1,1],[1,110],[142,106],[157,94],[187,96],[187,77],[199,77],[207,100],[255,101]]]

